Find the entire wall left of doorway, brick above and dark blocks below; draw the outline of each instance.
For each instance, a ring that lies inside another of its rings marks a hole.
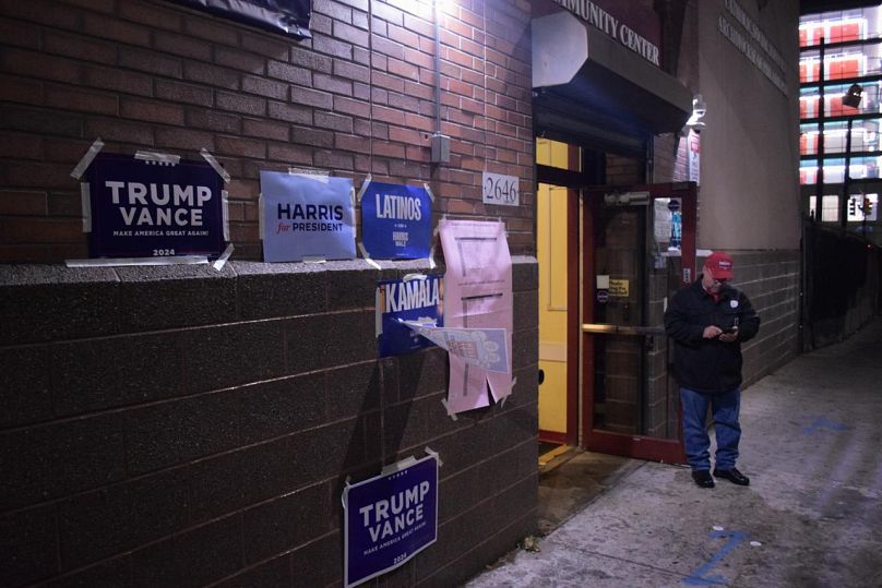
[[[0,263],[86,256],[69,173],[105,152],[212,152],[233,261],[205,267],[0,265],[3,586],[324,586],[342,578],[339,496],[426,446],[438,543],[377,584],[450,586],[536,519],[537,269],[528,14],[441,15],[430,163],[428,2],[313,0],[295,40],[153,0],[0,0]],[[446,417],[438,350],[377,359],[378,279],[419,263],[261,264],[259,171],[428,182],[443,214],[501,217],[515,263],[504,407]],[[521,206],[481,203],[481,171]]]

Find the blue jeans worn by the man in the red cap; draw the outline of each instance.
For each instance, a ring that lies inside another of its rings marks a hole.
[[[738,442],[741,440],[741,425],[738,424],[741,388],[724,394],[702,394],[680,388],[680,401],[683,405],[683,444],[692,471],[711,469],[711,439],[705,427],[708,406],[714,413],[716,430],[716,467],[734,468],[738,459]]]

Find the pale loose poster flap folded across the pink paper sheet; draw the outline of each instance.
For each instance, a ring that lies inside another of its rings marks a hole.
[[[469,365],[509,373],[509,337],[504,328],[448,328],[410,321],[404,324]]]

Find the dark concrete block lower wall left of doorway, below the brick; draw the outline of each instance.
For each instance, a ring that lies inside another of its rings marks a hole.
[[[537,266],[515,257],[513,396],[450,419],[438,349],[377,358],[416,263],[0,267],[9,587],[333,586],[341,494],[439,452],[439,539],[370,585],[452,586],[534,531]]]

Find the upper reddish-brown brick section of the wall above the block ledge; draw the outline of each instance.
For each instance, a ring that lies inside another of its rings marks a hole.
[[[314,0],[312,39],[264,33],[159,0],[0,1],[0,262],[86,256],[69,176],[105,152],[212,152],[229,187],[234,259],[260,260],[259,170],[314,167],[360,183],[430,182],[434,213],[501,216],[533,243],[528,14],[449,3],[436,130],[429,2]],[[481,203],[485,169],[521,178],[521,206]]]

